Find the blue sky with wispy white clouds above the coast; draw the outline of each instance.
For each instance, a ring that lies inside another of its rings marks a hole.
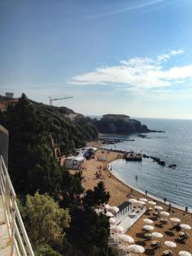
[[[192,0],[0,1],[0,94],[192,119]]]

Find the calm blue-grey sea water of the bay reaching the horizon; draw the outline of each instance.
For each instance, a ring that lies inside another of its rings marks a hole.
[[[113,174],[125,183],[180,206],[192,208],[192,120],[139,119],[149,129],[166,133],[148,133],[146,138],[113,136],[135,139],[106,148],[116,148],[160,157],[167,165],[176,164],[176,169],[160,166],[150,159],[142,162],[113,162]],[[111,136],[106,136],[111,137]],[[137,176],[137,180],[136,180]]]

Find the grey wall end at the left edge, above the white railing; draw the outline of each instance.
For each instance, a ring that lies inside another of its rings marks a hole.
[[[9,132],[0,125],[0,155],[3,155],[5,165],[8,166]]]

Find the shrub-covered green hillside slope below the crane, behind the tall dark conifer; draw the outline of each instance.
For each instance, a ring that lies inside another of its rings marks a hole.
[[[74,153],[75,148],[84,147],[86,142],[98,137],[95,125],[82,114],[38,102],[32,102],[32,105],[44,117],[46,129],[60,146],[62,154]]]

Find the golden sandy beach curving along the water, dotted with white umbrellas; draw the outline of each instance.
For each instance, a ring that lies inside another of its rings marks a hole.
[[[105,161],[97,160],[97,157],[101,154],[105,156]],[[127,195],[131,194],[131,187],[125,183],[122,183],[118,178],[113,177],[113,175],[108,172],[108,164],[120,157],[122,157],[122,154],[115,152],[108,153],[108,151],[99,149],[96,152],[96,158],[85,161],[83,166],[84,188],[93,189],[96,183],[102,180],[106,189],[110,192],[111,197],[109,200],[109,205],[111,206],[119,206],[124,201],[128,201],[130,197]],[[102,178],[96,178],[96,171],[98,172],[99,169],[101,169]],[[146,197],[135,189],[132,189],[132,196],[134,196],[136,199]],[[146,198],[148,200],[150,199],[148,196]],[[156,202],[159,206],[163,207],[163,211],[168,211],[167,205],[160,201]],[[146,241],[143,238],[143,218],[152,219],[154,221],[154,232],[160,232],[163,235],[163,238],[155,239],[156,241],[160,241],[160,248],[154,249],[154,247],[151,245],[151,241]],[[188,251],[192,253],[192,230],[180,230],[185,231],[189,235],[188,239],[181,240],[179,237],[179,231],[172,230],[174,223],[170,221],[170,218],[180,218],[181,224],[189,224],[192,226],[192,214],[185,214],[182,210],[172,207],[170,216],[166,217],[168,224],[165,224],[164,227],[160,227],[160,218],[163,217],[155,218],[154,210],[152,210],[149,213],[145,213],[143,217],[140,218],[137,223],[127,231],[126,234],[132,236],[135,239],[136,244],[145,247],[145,252],[141,253],[140,255],[162,255],[163,252],[168,249],[171,250],[174,255],[178,255],[179,251]],[[177,247],[166,247],[164,244],[165,241],[174,241],[177,243]]]

